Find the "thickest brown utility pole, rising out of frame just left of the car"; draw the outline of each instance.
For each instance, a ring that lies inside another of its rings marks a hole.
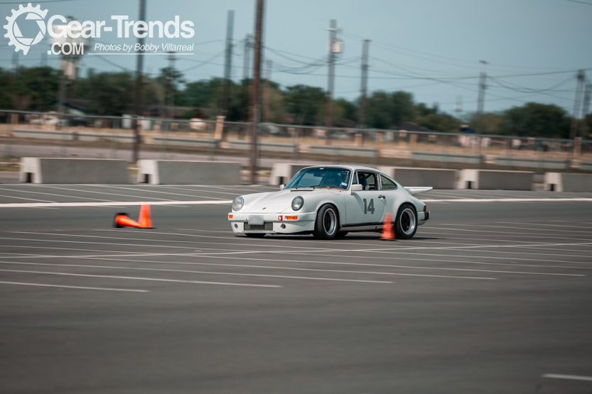
[[[251,87],[251,158],[250,158],[250,176],[251,185],[257,183],[257,137],[259,134],[259,121],[261,119],[261,41],[263,34],[263,7],[264,0],[257,0],[257,11],[255,19],[255,56],[253,65],[253,84]]]

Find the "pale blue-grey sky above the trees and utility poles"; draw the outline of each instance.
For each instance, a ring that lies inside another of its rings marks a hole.
[[[146,20],[163,23],[181,16],[195,24],[191,39],[150,39],[146,43],[195,43],[194,55],[179,56],[176,68],[188,81],[222,77],[227,11],[235,11],[235,56],[232,77],[243,74],[243,43],[253,33],[254,0],[146,0]],[[14,0],[0,0],[4,21]],[[60,14],[78,21],[110,22],[112,15],[137,20],[139,0],[38,1],[48,17]],[[47,21],[48,18],[45,18]],[[438,103],[453,113],[462,99],[464,112],[477,108],[478,75],[487,72],[485,111],[500,111],[524,102],[556,104],[574,109],[576,70],[588,69],[592,80],[592,0],[267,0],[265,58],[274,62],[271,79],[282,87],[310,84],[327,87],[327,67],[311,67],[308,74],[287,71],[315,64],[328,51],[330,19],[343,29],[338,37],[344,51],[336,68],[335,97],[355,99],[360,94],[362,39],[370,43],[370,91],[404,90],[416,102]],[[3,34],[5,33],[2,29]],[[135,43],[104,33],[102,43]],[[95,40],[95,43],[99,40]],[[0,43],[0,67],[9,67],[14,47]],[[48,43],[19,53],[21,65],[38,65]],[[58,65],[50,55],[49,65]],[[145,57],[144,71],[157,73],[168,64],[165,56]],[[208,64],[202,64],[210,60]],[[489,64],[483,65],[480,60]],[[82,74],[135,70],[135,56],[85,55]],[[304,64],[303,64],[304,63]]]

